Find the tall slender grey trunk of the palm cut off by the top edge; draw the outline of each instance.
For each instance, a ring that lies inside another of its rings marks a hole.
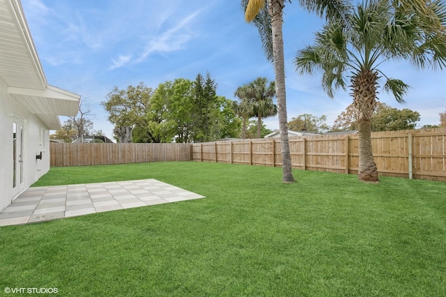
[[[274,56],[274,74],[276,82],[277,113],[279,114],[280,145],[282,149],[282,181],[295,181],[291,172],[291,154],[288,140],[288,116],[286,115],[284,39],[282,36],[282,14],[284,0],[268,0],[272,19],[272,52]]]

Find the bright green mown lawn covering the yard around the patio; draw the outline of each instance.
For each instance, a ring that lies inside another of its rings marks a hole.
[[[294,175],[284,184],[281,168],[201,162],[52,168],[36,185],[156,178],[206,198],[0,227],[0,290],[445,296],[446,183]]]

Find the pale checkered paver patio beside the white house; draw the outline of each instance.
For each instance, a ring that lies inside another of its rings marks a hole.
[[[153,178],[29,188],[0,213],[0,226],[203,198]]]

